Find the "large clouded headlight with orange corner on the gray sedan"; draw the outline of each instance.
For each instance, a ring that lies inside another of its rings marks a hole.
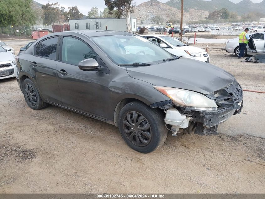
[[[173,103],[178,106],[189,107],[193,110],[217,110],[217,105],[215,101],[209,99],[208,97],[200,93],[163,86],[154,86],[154,88],[166,95],[167,97],[171,98]]]

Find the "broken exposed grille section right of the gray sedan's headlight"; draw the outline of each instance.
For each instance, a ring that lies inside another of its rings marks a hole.
[[[236,80],[234,80],[232,84],[226,86],[225,88],[210,93],[206,96],[216,102],[218,109],[241,109],[241,103],[243,102],[243,90]]]

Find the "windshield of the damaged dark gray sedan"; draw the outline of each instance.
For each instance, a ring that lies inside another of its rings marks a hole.
[[[141,36],[112,35],[91,39],[115,64],[157,64],[163,59],[174,58],[166,50]]]

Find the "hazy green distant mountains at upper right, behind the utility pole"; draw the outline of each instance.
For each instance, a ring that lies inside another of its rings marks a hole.
[[[181,0],[170,0],[166,4],[168,6],[180,9]],[[250,0],[243,0],[239,3],[232,3],[229,0],[185,0],[184,10],[189,9],[199,9],[208,12],[213,12],[215,10],[220,10],[221,8],[227,8],[231,12],[237,12],[237,14],[242,15],[246,12],[264,12],[265,10],[265,0],[261,3],[252,3]]]

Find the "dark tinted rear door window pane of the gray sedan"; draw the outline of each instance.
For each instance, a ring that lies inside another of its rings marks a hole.
[[[57,42],[58,37],[53,37],[42,41],[40,47],[40,56],[49,59],[56,59]]]

